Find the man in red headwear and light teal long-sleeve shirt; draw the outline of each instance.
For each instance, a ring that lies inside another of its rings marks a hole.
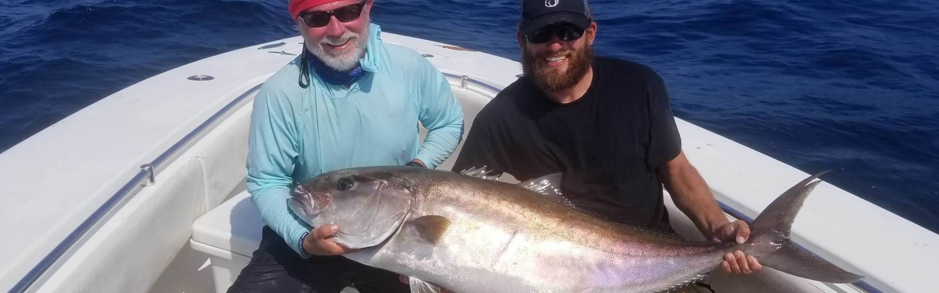
[[[339,254],[335,225],[311,230],[287,208],[298,182],[366,165],[436,167],[462,138],[443,75],[416,52],[382,43],[371,0],[292,0],[305,48],[254,100],[248,192],[267,224],[229,292],[408,292],[384,270]],[[420,144],[418,122],[428,130]]]

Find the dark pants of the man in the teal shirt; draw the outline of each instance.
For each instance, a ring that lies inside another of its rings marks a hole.
[[[339,293],[348,285],[362,293],[410,292],[398,274],[341,255],[300,257],[264,226],[260,247],[228,292]]]

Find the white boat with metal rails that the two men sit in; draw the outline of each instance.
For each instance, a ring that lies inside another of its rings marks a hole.
[[[468,131],[521,73],[517,62],[491,54],[382,37],[444,72]],[[163,72],[0,153],[0,290],[224,292],[263,225],[244,186],[254,95],[300,53],[300,42],[275,40]],[[808,177],[684,120],[678,126],[685,153],[731,219],[751,220]],[[439,168],[449,169],[458,151]],[[675,228],[700,238],[666,199]],[[937,291],[939,235],[833,185],[808,197],[793,240],[867,278],[834,285],[765,269],[718,271],[706,281],[721,293]]]

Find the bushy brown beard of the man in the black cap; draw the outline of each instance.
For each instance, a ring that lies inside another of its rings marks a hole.
[[[593,45],[586,44],[583,49],[568,52],[567,61],[570,66],[566,71],[561,72],[542,65],[539,61],[549,54],[533,56],[527,49],[522,48],[522,72],[534,82],[534,85],[546,92],[556,93],[568,89],[577,85],[593,65]]]

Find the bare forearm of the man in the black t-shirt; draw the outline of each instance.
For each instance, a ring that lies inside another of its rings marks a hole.
[[[687,162],[684,153],[663,165],[659,175],[675,206],[698,226],[705,237],[710,239],[718,227],[730,223],[717,206],[704,178]]]

